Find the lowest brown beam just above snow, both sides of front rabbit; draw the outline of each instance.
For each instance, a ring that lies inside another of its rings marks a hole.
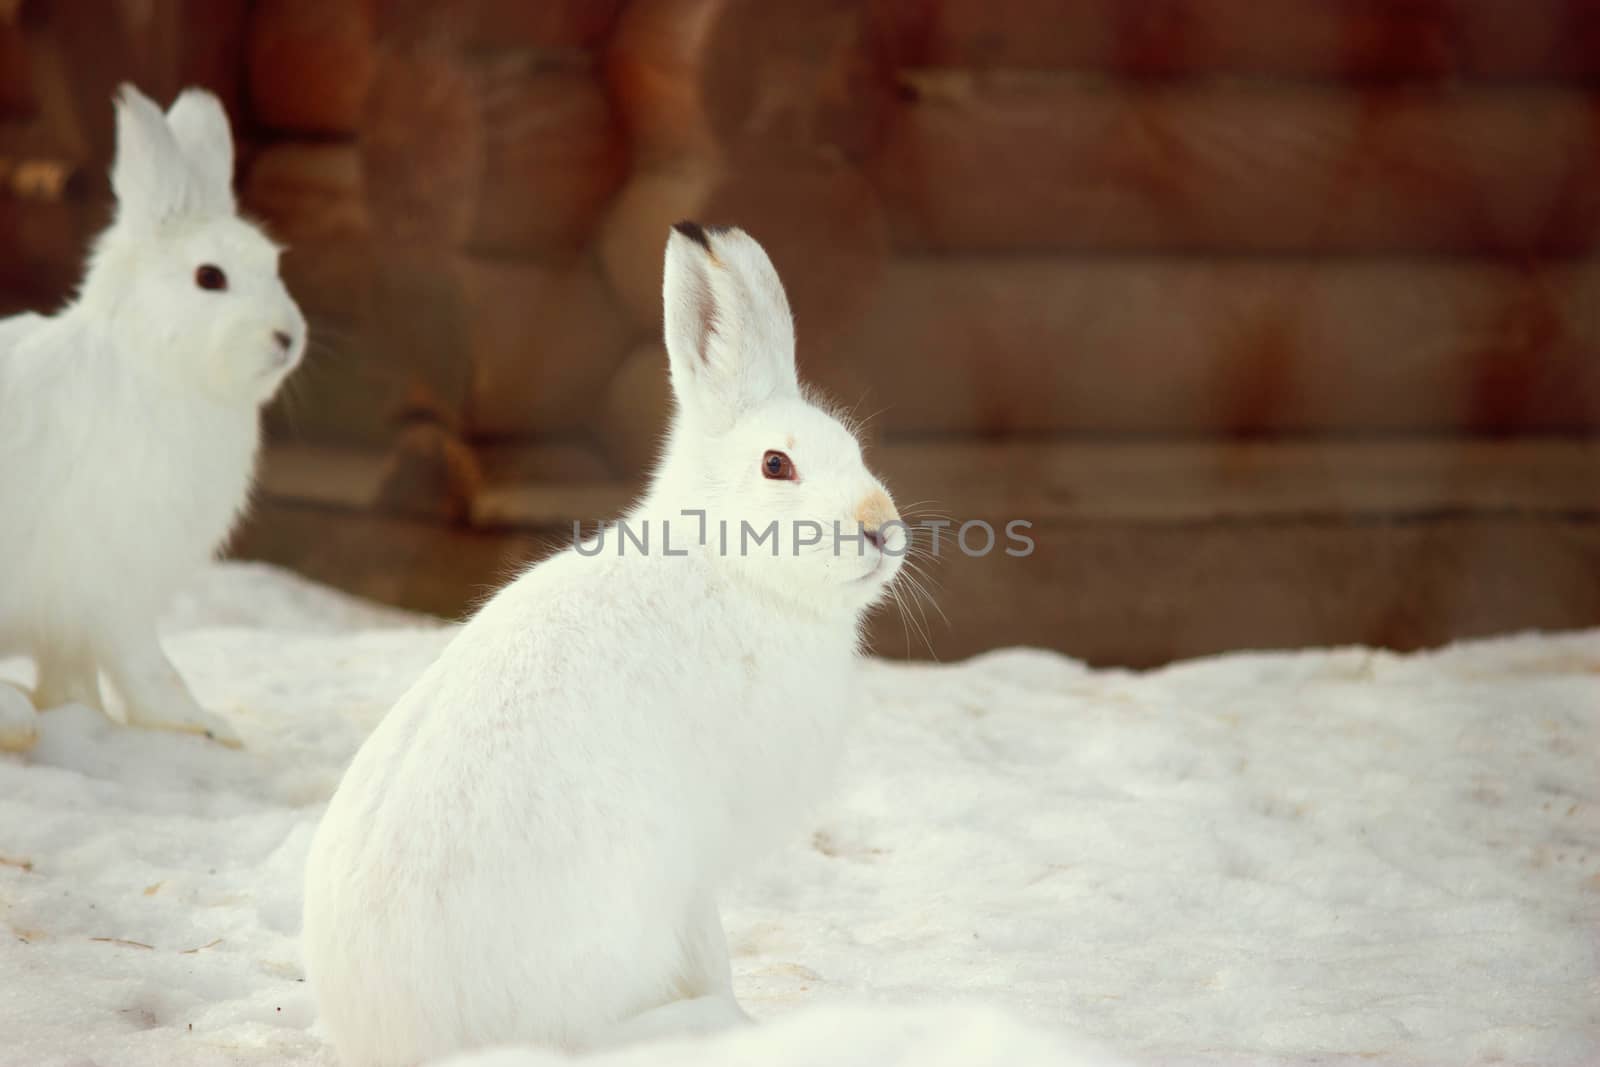
[[[293,566],[384,603],[461,617],[570,528],[506,536],[264,501],[234,555]],[[1056,648],[1152,667],[1238,648],[1376,645],[1600,624],[1600,523],[1557,517],[1416,522],[1066,523],[1027,558],[946,557],[933,654]],[[930,656],[893,608],[869,625],[886,656]]]

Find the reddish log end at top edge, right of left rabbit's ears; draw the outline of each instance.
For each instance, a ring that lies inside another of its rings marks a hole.
[[[378,69],[374,0],[264,0],[250,19],[250,102],[262,126],[350,134]]]

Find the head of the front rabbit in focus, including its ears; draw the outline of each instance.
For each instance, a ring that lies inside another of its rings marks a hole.
[[[718,565],[813,609],[880,600],[907,530],[856,437],[802,390],[766,253],[742,230],[680,222],[662,298],[677,411],[654,493],[706,514],[704,531],[674,520],[674,539],[704,533]]]

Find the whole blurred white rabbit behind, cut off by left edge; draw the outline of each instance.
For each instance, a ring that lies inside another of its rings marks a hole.
[[[37,707],[101,707],[104,670],[130,723],[226,744],[155,621],[246,506],[259,408],[306,347],[232,174],[214,96],[163,115],[123,86],[117,218],[75,301],[0,322],[0,649],[34,654]],[[27,747],[32,712],[6,707],[0,747]]]

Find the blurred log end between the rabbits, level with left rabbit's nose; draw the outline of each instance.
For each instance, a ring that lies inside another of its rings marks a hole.
[[[467,430],[536,437],[592,424],[627,328],[587,264],[467,259],[459,266],[470,365]]]

